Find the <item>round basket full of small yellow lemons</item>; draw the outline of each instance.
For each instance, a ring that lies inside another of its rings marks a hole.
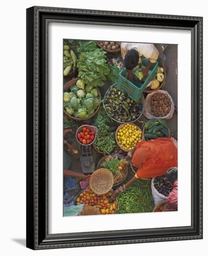
[[[133,123],[121,124],[116,130],[116,141],[119,148],[129,152],[142,141],[142,130]]]

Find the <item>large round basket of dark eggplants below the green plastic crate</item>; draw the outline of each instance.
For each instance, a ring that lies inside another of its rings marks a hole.
[[[119,123],[137,121],[144,111],[144,96],[139,101],[131,100],[126,93],[122,93],[112,85],[105,93],[103,105],[107,115]]]

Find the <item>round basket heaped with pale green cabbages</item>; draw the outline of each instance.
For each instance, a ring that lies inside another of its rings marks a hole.
[[[65,115],[77,121],[84,121],[96,115],[102,102],[99,90],[92,88],[89,91],[79,78],[65,83],[63,100]]]

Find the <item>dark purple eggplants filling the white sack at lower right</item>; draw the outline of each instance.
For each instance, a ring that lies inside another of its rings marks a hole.
[[[165,176],[156,177],[154,179],[154,186],[159,193],[165,196],[168,196],[173,189],[171,183],[167,180]]]

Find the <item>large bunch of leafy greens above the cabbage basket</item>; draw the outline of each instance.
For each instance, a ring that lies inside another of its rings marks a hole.
[[[96,48],[91,52],[82,52],[78,58],[78,76],[86,85],[104,86],[110,68],[106,63],[106,52]]]

